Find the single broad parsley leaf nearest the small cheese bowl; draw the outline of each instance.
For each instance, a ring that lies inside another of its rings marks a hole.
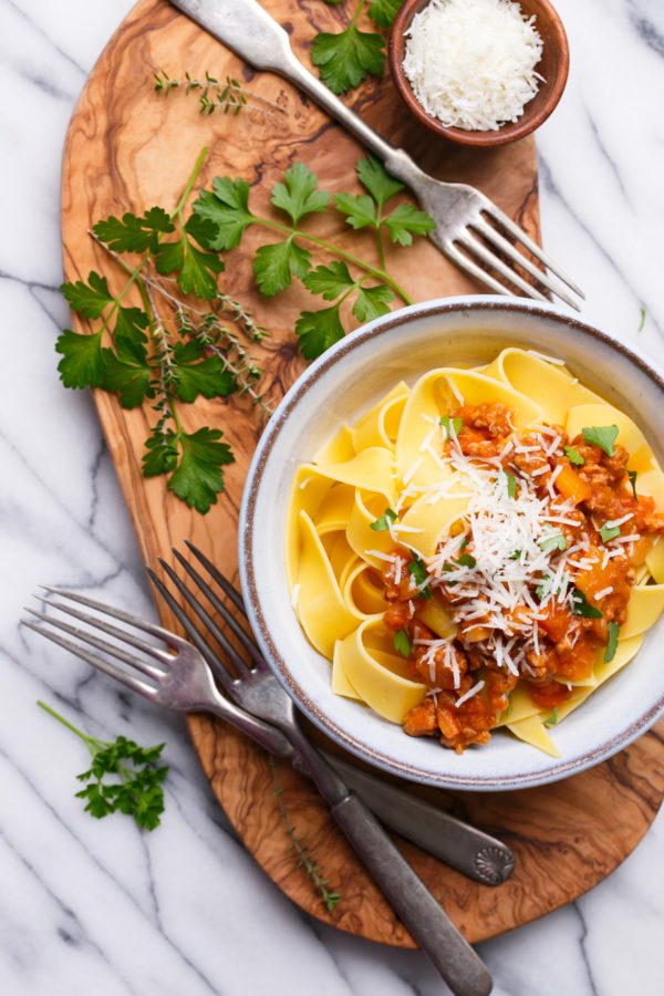
[[[383,72],[384,41],[380,34],[360,31],[351,22],[339,34],[318,34],[311,46],[311,61],[320,66],[321,79],[333,93],[345,93],[362,83],[367,73]]]

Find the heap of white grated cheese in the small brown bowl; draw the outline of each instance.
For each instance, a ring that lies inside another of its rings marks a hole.
[[[513,122],[542,80],[542,40],[512,0],[432,0],[413,18],[403,68],[424,110],[447,127]]]

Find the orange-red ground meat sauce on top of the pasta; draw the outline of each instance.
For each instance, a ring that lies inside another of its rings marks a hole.
[[[589,550],[583,556],[588,561],[596,560],[592,570],[574,575],[574,583],[591,601],[595,593],[611,589],[601,599],[602,619],[572,614],[568,603],[551,599],[546,618],[538,621],[538,650],[526,654],[519,676],[496,665],[495,652],[487,645],[492,634],[488,620],[478,619],[457,634],[447,655],[440,647],[429,652],[426,644],[414,644],[408,673],[432,691],[421,705],[407,713],[404,730],[411,736],[438,736],[443,746],[461,753],[471,744],[487,743],[490,729],[508,707],[509,694],[519,677],[529,683],[531,698],[539,708],[553,709],[571,694],[568,685],[556,677],[573,679],[592,673],[598,647],[608,642],[608,623],[624,623],[630,588],[635,581],[626,553],[605,560],[601,526],[631,515],[630,531],[664,531],[664,515],[655,510],[652,498],[634,498],[626,473],[629,455],[622,446],[616,445],[613,456],[608,456],[599,446],[578,436],[571,445],[583,464],[572,467],[564,455],[563,447],[569,439],[561,426],[551,427],[559,437],[551,452],[550,438],[542,439],[537,430],[515,435],[513,413],[506,405],[461,405],[450,417],[463,419],[457,434],[461,453],[485,459],[500,457],[504,467],[513,467],[528,476],[538,494],[550,494],[550,487],[556,488],[556,479],[550,486],[553,473],[558,467],[566,470],[564,475],[561,470],[557,474],[564,484],[563,494],[557,500],[561,505],[567,501],[564,518],[570,520],[561,525],[561,531],[569,544],[581,532],[587,536]],[[510,438],[526,452],[515,453],[513,446],[508,446]],[[580,496],[583,497],[577,500]],[[570,500],[577,506],[572,510]],[[471,551],[471,544],[467,549]],[[395,550],[383,570],[385,598],[390,602],[385,623],[393,631],[405,630],[414,641],[434,640],[436,634],[418,619],[423,601],[408,572],[409,562],[408,552]],[[460,601],[453,585],[440,584],[436,591],[452,610],[455,601]],[[477,685],[478,674],[484,675],[484,687],[464,699]],[[460,705],[459,699],[464,699]]]

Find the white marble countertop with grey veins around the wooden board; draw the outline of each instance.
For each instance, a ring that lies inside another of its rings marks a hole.
[[[63,390],[53,353],[69,322],[58,290],[62,144],[85,77],[129,7],[0,0],[0,990],[444,993],[418,952],[347,936],[291,905],[229,830],[180,716],[56,655],[18,624],[39,582],[94,589],[154,614],[92,402]],[[587,320],[664,363],[664,6],[557,7],[571,74],[538,133],[544,245],[585,289]],[[84,748],[37,708],[39,698],[102,737],[167,741],[172,774],[157,832],[83,812],[73,792]],[[663,868],[661,813],[602,884],[478,946],[497,996],[664,992]]]

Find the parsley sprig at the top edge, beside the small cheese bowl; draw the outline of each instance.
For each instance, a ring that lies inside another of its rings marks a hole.
[[[336,6],[341,0],[326,0]],[[375,31],[361,31],[360,15],[369,0],[360,0],[344,31],[318,34],[311,48],[311,61],[333,93],[345,93],[357,86],[367,73],[380,76],[385,69],[385,39]],[[390,28],[403,0],[372,0],[367,13],[378,28]]]

